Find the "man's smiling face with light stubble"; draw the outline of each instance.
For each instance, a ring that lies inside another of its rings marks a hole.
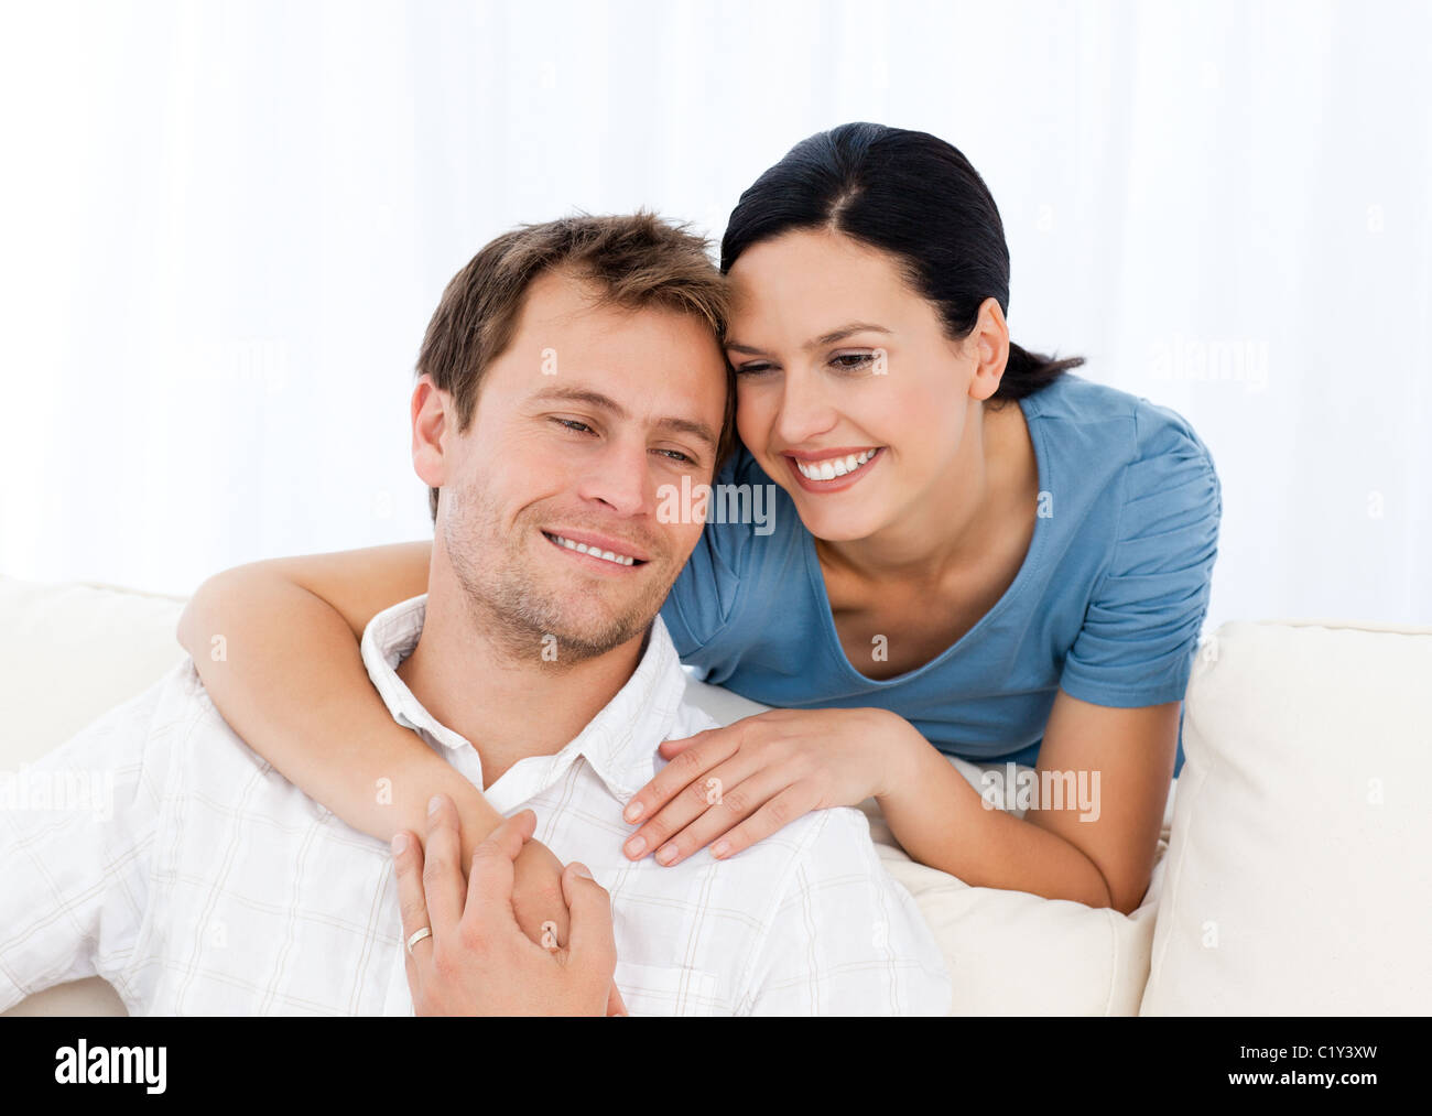
[[[556,636],[564,663],[640,636],[702,531],[659,521],[659,493],[710,481],[725,403],[699,318],[537,279],[471,425],[444,438],[437,537],[478,620],[518,653]]]

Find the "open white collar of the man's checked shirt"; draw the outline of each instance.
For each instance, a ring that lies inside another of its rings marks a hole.
[[[470,754],[480,776],[477,749],[440,723],[397,673],[398,665],[418,645],[427,602],[427,595],[417,596],[374,616],[362,635],[364,665],[394,721],[450,751]],[[500,812],[508,812],[553,785],[579,756],[587,761],[616,798],[626,801],[656,774],[657,745],[670,735],[684,693],[686,675],[680,658],[666,625],[656,616],[646,650],[626,685],[560,752],[514,764],[488,788],[488,801]],[[493,795],[498,789],[501,802]]]

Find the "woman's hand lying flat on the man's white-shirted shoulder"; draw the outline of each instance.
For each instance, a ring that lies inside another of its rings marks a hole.
[[[912,736],[924,744],[886,709],[772,709],[666,741],[672,762],[627,804],[623,817],[644,824],[624,851],[672,865],[715,841],[725,860],[812,809],[882,798]]]

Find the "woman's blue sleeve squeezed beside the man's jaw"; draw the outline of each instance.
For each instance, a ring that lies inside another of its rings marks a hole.
[[[722,466],[712,487],[750,483],[755,461],[743,447]],[[707,507],[713,507],[707,501]],[[742,564],[752,534],[746,523],[717,523],[707,511],[696,549],[662,606],[662,622],[682,662],[702,666],[700,652],[730,623],[742,589]]]

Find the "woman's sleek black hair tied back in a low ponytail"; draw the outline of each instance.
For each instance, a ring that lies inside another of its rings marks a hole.
[[[987,298],[1010,312],[1010,248],[994,198],[969,160],[928,132],[849,123],[800,140],[740,195],[720,269],[730,271],[755,244],[815,228],[895,256],[951,340],[968,337]],[[1055,360],[1010,342],[992,400],[1032,395],[1081,364],[1083,357]]]

